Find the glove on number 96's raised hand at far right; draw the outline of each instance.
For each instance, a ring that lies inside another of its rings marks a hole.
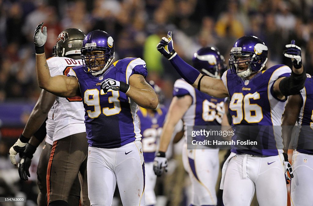
[[[291,40],[290,44],[285,45],[283,51],[285,57],[291,59],[293,66],[296,69],[300,69],[302,66],[301,48],[295,45],[295,40]]]

